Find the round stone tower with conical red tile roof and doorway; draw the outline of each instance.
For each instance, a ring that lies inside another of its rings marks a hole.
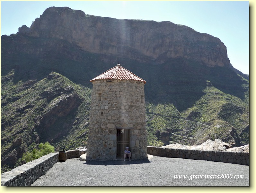
[[[144,84],[146,81],[118,64],[90,80],[93,83],[87,160],[147,158]]]

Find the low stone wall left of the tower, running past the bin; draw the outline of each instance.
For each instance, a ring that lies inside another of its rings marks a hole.
[[[86,151],[68,150],[67,159],[78,158]],[[59,162],[59,153],[49,153],[38,159],[18,166],[9,172],[1,174],[1,186],[30,186],[40,176],[44,175],[55,163]]]

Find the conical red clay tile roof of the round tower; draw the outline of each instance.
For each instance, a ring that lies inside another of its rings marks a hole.
[[[90,80],[90,82],[94,80],[103,80],[103,79],[108,79],[108,80],[137,80],[144,82],[146,84],[146,81],[141,79],[140,77],[136,76],[129,70],[125,69],[124,67],[121,67],[120,64],[117,66],[110,68],[108,71],[102,73],[101,75],[93,78]]]

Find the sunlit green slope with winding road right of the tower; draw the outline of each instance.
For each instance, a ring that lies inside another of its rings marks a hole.
[[[221,139],[234,143],[230,135],[231,127],[241,134],[243,144],[249,143],[249,107],[241,99],[226,94],[210,81],[203,90],[202,97],[195,104],[183,112],[179,112],[172,104],[146,103],[147,131],[151,144],[161,139],[155,137],[157,131],[171,131],[171,133],[184,136],[171,135],[170,141],[196,138],[196,141],[179,143],[186,145],[200,144],[207,139]],[[245,134],[247,133],[247,134]],[[157,144],[157,142],[155,142]]]

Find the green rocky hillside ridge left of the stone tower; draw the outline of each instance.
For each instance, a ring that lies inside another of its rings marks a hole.
[[[11,71],[2,77],[1,96],[1,162],[10,168],[34,142],[49,141],[58,148],[57,142],[83,127],[91,94],[91,89],[54,72],[40,81],[16,84],[13,75]]]

